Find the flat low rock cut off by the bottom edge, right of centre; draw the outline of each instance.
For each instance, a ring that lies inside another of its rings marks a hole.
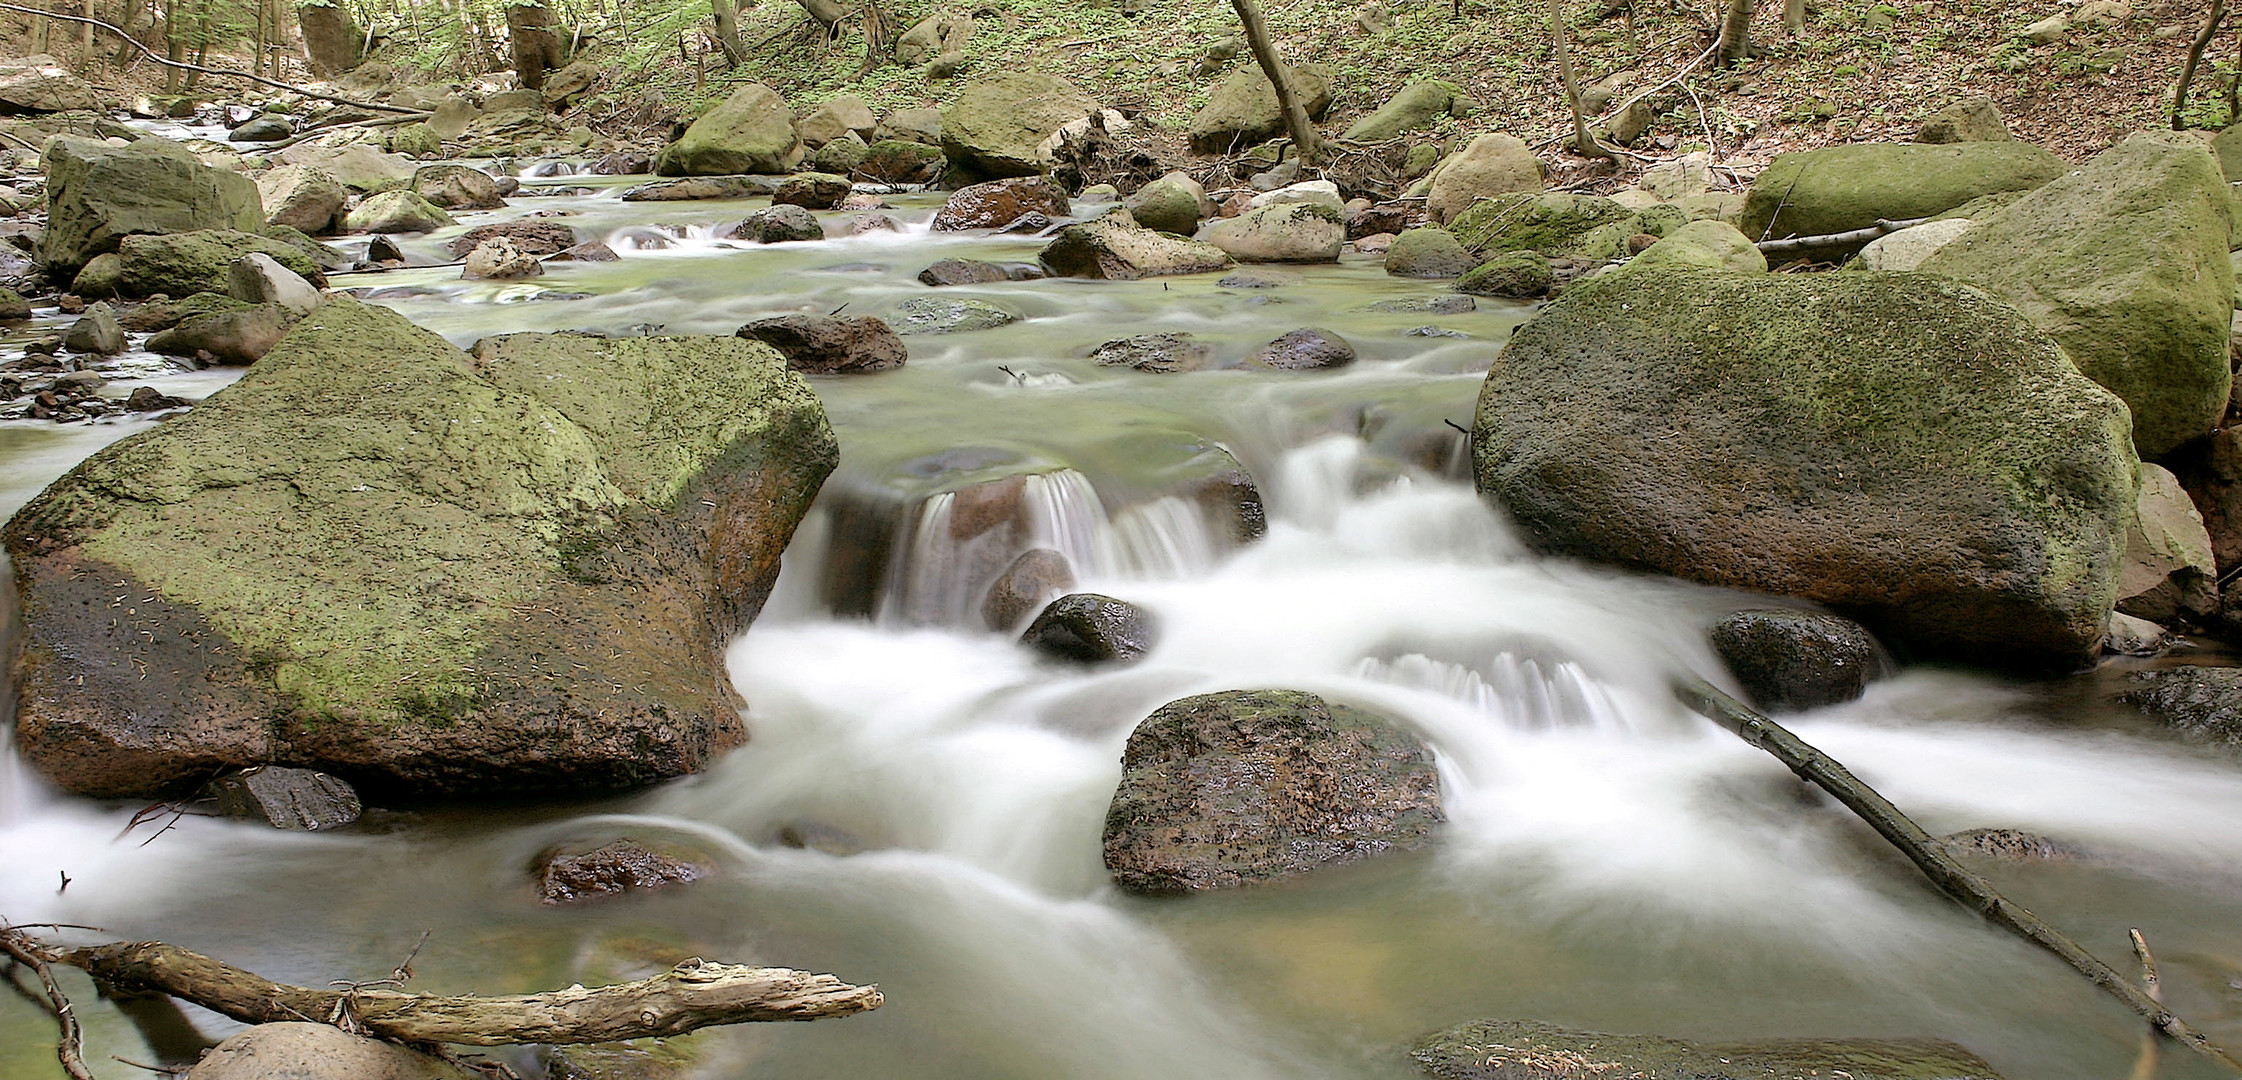
[[[1489,1053],[1500,1046],[1504,1053]],[[1437,1080],[2000,1080],[1942,1040],[1682,1042],[1534,1020],[1475,1020],[1426,1035],[1410,1058]]]

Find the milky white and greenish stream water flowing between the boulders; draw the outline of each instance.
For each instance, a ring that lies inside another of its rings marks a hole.
[[[1264,289],[1202,276],[937,291],[912,280],[935,258],[1031,260],[1036,242],[930,235],[933,199],[917,197],[897,199],[901,233],[726,244],[711,226],[756,204],[552,184],[594,193],[462,224],[558,211],[621,262],[336,285],[374,287],[462,345],[518,329],[729,334],[919,296],[1022,316],[915,336],[899,372],[816,381],[843,462],[726,657],[751,744],[630,798],[390,811],[321,836],[206,818],[128,834],[137,807],[61,798],[4,760],[0,916],[159,937],[303,984],[388,975],[424,930],[424,990],[590,984],[684,955],[881,984],[888,1004],[863,1017],[700,1037],[693,1076],[708,1078],[1406,1078],[1415,1037],[1473,1017],[1948,1037],[2011,1080],[2130,1067],[2128,1013],[1673,706],[1673,674],[1724,679],[1704,627],[1755,600],[1531,556],[1471,493],[1446,421],[1469,426],[1480,374],[1529,309],[1372,311],[1437,291],[1354,258],[1256,271],[1280,280]],[[408,251],[439,258],[448,235]],[[1184,376],[1087,359],[1141,332],[1242,356],[1300,325],[1345,334],[1363,359]],[[150,381],[195,397],[224,379]],[[0,426],[0,511],[146,423]],[[1229,459],[1267,504],[1256,542],[1191,495]],[[966,488],[1004,477],[1027,477],[1007,529],[969,524],[982,502]],[[1150,609],[1150,657],[1060,668],[986,630],[980,589],[1027,547]],[[1099,834],[1130,728],[1229,688],[1312,690],[1417,728],[1446,793],[1439,845],[1280,887],[1117,894]],[[2020,827],[2087,849],[1991,874],[2112,961],[2125,928],[2146,930],[2170,999],[2242,1042],[2233,755],[2146,730],[2092,683],[1935,668],[1796,728],[1933,831]],[[818,842],[787,842],[805,834]],[[614,836],[722,872],[668,894],[536,903],[540,851]],[[110,1053],[155,1051],[70,986],[96,1073],[146,1076]],[[0,995],[0,1076],[58,1076],[49,1040],[45,1015]],[[2211,1076],[2175,1053],[2161,1076]]]

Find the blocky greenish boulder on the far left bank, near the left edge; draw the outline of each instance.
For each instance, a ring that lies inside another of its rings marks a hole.
[[[265,226],[256,181],[204,166],[170,139],[132,146],[54,139],[43,161],[47,233],[38,260],[54,280],[70,280],[128,235]]]

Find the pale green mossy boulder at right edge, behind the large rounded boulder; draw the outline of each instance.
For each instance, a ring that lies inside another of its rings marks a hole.
[[[2190,134],[2141,132],[1980,220],[1919,269],[2020,307],[2125,399],[2141,457],[2161,457],[2226,412],[2229,229],[2211,150]]]

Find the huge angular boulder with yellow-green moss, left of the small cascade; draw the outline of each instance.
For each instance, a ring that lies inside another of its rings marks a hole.
[[[417,795],[691,773],[744,737],[722,650],[834,457],[760,343],[518,334],[469,359],[330,300],[0,533],[16,744],[110,798],[262,762]]]

